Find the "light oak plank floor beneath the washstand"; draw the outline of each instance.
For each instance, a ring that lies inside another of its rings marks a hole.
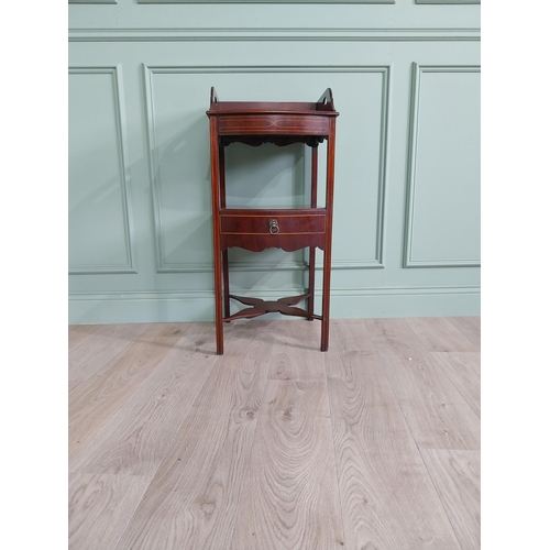
[[[73,326],[72,550],[480,548],[480,318]]]

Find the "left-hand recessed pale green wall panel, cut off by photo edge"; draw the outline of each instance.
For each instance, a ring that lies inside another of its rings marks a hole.
[[[69,270],[75,274],[132,273],[118,70],[73,68],[68,82]]]

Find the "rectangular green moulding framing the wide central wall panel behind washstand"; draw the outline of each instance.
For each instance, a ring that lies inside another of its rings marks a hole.
[[[333,270],[361,270],[361,268],[383,268],[384,267],[384,219],[385,219],[385,198],[386,198],[386,162],[387,162],[387,132],[388,132],[388,98],[389,98],[389,66],[223,66],[223,67],[191,67],[191,66],[147,66],[143,65],[146,98],[146,124],[148,139],[148,165],[151,188],[153,193],[153,209],[155,219],[155,241],[156,241],[156,262],[157,273],[179,273],[179,272],[211,272],[212,266],[206,263],[186,263],[168,264],[165,261],[164,241],[163,241],[163,220],[161,208],[161,182],[158,180],[158,147],[155,133],[155,113],[154,113],[154,90],[153,76],[155,74],[220,74],[220,73],[381,73],[382,74],[382,116],[381,116],[381,148],[380,148],[380,169],[378,169],[378,190],[377,190],[377,211],[376,211],[376,244],[375,256],[365,260],[340,260],[332,262]],[[206,109],[206,108],[205,108]],[[338,139],[338,138],[337,138]],[[264,264],[254,267],[255,264],[237,265],[238,271],[270,271],[274,267],[280,268],[280,264]],[[301,262],[284,263],[287,270],[302,270]],[[304,263],[307,266],[307,263]],[[283,267],[285,268],[285,267]]]

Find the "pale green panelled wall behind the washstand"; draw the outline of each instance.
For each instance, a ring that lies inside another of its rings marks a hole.
[[[211,86],[275,101],[332,88],[333,318],[479,315],[480,6],[74,3],[72,323],[213,318]],[[308,155],[231,145],[230,201],[300,205]],[[230,258],[240,294],[304,290],[302,252]]]

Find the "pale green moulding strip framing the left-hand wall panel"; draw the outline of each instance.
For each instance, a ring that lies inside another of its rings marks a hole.
[[[124,243],[128,262],[125,265],[80,265],[69,267],[69,275],[100,275],[138,273],[135,264],[135,237],[130,197],[130,165],[128,154],[128,130],[122,84],[122,66],[114,67],[69,67],[69,75],[111,75],[113,84],[114,105],[117,106],[117,134],[120,157],[120,187],[122,195],[122,218],[124,223]]]

